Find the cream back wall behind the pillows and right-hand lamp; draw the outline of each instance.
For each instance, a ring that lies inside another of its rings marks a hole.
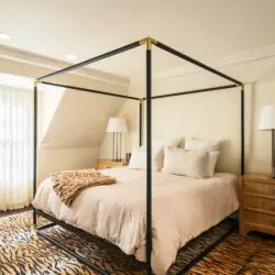
[[[275,105],[275,58],[227,66],[220,70],[245,82],[245,164],[246,170],[270,173],[271,133],[256,131],[260,110]],[[153,81],[153,95],[170,94],[227,81],[205,72]],[[145,94],[144,82],[132,85],[130,95]],[[139,122],[133,102],[123,106],[121,113],[130,125],[129,143],[139,143]],[[217,169],[240,173],[240,89],[196,94],[153,101],[153,136],[221,140]],[[144,121],[145,122],[145,121]],[[145,123],[144,123],[145,125]],[[145,131],[144,131],[145,132]],[[145,133],[144,133],[145,134]],[[131,144],[128,145],[128,151]]]

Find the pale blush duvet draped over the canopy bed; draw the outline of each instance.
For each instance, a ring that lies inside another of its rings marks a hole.
[[[116,167],[100,172],[114,177],[117,184],[88,188],[68,208],[47,178],[37,188],[33,206],[145,261],[145,170]],[[202,179],[153,173],[155,274],[166,274],[182,246],[238,209],[237,183],[234,175],[224,173]]]

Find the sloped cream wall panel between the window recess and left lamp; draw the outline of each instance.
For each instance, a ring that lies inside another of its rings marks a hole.
[[[47,147],[98,147],[124,99],[66,90],[42,141]]]

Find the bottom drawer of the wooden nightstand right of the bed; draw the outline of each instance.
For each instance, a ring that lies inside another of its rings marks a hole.
[[[275,213],[264,213],[253,210],[244,210],[245,222],[251,222],[260,226],[270,227],[275,230]]]

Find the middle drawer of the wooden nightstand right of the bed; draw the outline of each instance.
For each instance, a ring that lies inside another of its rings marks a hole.
[[[261,196],[261,195],[260,195]],[[258,208],[275,212],[275,200],[268,198],[261,198],[257,196],[243,195],[243,207]]]

